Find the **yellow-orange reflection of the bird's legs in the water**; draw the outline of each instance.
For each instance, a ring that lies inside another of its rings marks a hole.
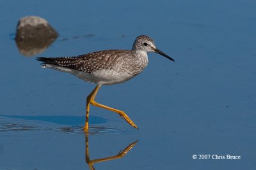
[[[120,158],[124,157],[133,148],[133,146],[136,145],[136,143],[138,143],[138,140],[136,140],[133,143],[131,143],[130,145],[128,145],[126,148],[124,148],[124,150],[121,150],[117,155],[91,160],[90,153],[89,153],[89,134],[86,133],[85,134],[85,160],[86,160],[86,163],[88,164],[88,166],[90,167],[91,170],[95,169],[95,167],[93,167],[93,164],[95,164],[95,163],[104,162],[104,161],[113,160],[113,159],[120,159]]]

